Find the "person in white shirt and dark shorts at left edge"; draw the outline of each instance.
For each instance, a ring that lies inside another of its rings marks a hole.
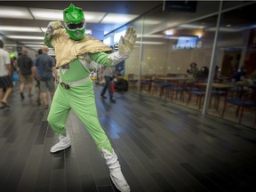
[[[5,92],[4,92],[5,89]],[[0,109],[10,108],[7,100],[12,93],[12,66],[9,53],[4,50],[4,42],[0,39]]]

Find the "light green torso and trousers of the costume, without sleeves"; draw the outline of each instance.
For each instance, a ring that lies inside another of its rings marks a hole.
[[[64,74],[63,69],[60,68],[60,79],[65,83],[76,82],[87,76],[89,71],[77,59],[69,64]],[[48,122],[57,134],[66,135],[65,125],[71,108],[88,129],[100,151],[101,148],[105,148],[112,153],[111,144],[99,122],[90,78],[82,84],[71,86],[70,89],[58,84],[48,116]]]

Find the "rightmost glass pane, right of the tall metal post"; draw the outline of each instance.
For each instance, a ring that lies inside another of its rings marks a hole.
[[[255,9],[255,2],[223,3],[215,56],[219,74],[213,79],[212,106],[207,111],[210,115],[253,128],[255,108],[250,106],[249,101],[255,102],[256,76],[252,74],[256,69]],[[244,111],[238,108],[243,101],[249,107]]]

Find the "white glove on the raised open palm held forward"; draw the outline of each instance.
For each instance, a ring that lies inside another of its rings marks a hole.
[[[122,55],[129,55],[132,52],[133,46],[136,42],[136,30],[134,27],[129,27],[124,37],[121,36],[118,44],[118,51]]]

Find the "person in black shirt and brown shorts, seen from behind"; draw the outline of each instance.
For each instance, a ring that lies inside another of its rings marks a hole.
[[[28,97],[32,97],[32,68],[33,61],[28,57],[28,50],[26,48],[22,49],[22,55],[18,58],[18,67],[20,68],[20,98],[24,100],[24,87],[28,84]]]

